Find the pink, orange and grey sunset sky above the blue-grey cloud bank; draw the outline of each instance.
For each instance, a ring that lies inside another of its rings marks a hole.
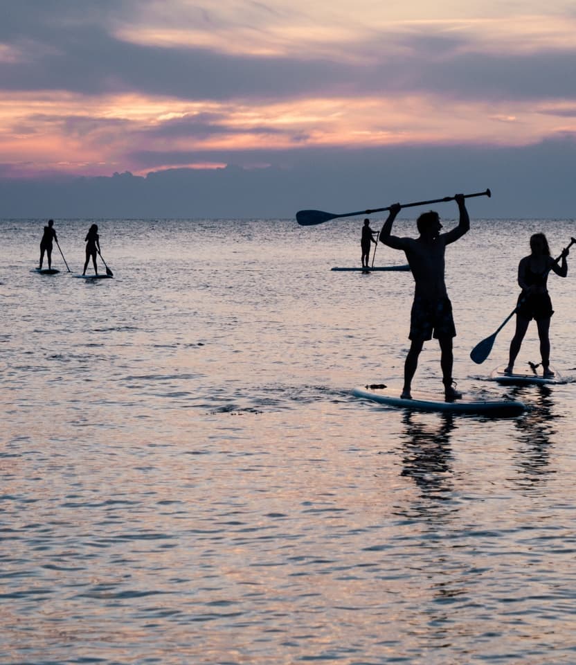
[[[573,1],[0,7],[4,181],[576,135]]]

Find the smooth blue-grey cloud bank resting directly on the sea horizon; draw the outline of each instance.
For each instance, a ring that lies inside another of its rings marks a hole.
[[[487,187],[492,198],[478,197],[471,207],[477,218],[575,215],[576,140],[571,136],[525,148],[305,149],[259,157],[284,166],[181,168],[147,177],[128,172],[67,179],[4,177],[0,216],[293,218],[305,208],[345,213]]]

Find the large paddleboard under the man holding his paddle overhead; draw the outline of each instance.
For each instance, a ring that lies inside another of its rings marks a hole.
[[[438,411],[447,414],[468,414],[475,416],[493,416],[497,418],[512,418],[519,416],[526,407],[523,402],[516,400],[472,400],[467,396],[454,402],[446,402],[438,399],[438,396],[426,393],[412,393],[413,399],[407,400],[400,397],[402,391],[377,384],[372,386],[358,387],[352,390],[356,397],[388,407],[399,409],[411,409],[413,411]]]

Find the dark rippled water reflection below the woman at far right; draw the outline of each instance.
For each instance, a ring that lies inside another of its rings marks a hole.
[[[556,472],[550,468],[550,437],[557,432],[552,391],[547,385],[516,387],[511,391],[514,399],[524,401],[528,401],[528,396],[536,395],[532,408],[523,418],[517,418],[515,423],[521,446],[514,455],[514,464],[519,472],[519,484],[523,488],[544,483],[550,474]]]

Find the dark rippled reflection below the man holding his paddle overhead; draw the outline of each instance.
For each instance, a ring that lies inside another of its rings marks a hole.
[[[453,492],[450,434],[456,428],[453,415],[440,414],[440,424],[433,427],[428,416],[406,411],[402,422],[406,439],[402,446],[402,476],[415,481],[422,497],[450,499]]]

